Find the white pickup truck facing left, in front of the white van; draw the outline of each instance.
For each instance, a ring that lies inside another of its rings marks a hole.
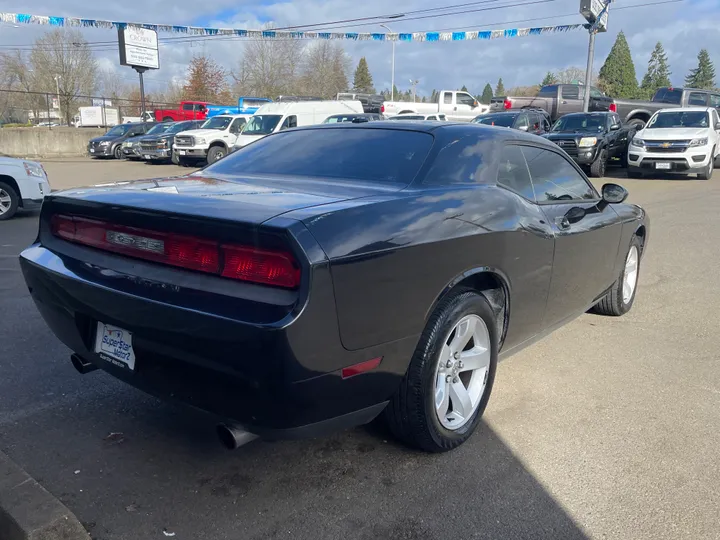
[[[208,164],[227,156],[251,114],[221,114],[205,120],[200,129],[175,135],[173,153],[179,165],[207,160]]]

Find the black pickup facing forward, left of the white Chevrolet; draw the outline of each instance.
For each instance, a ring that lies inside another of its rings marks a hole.
[[[611,159],[627,166],[627,150],[635,126],[623,124],[617,113],[575,113],[555,122],[545,138],[557,144],[591,176],[601,178]]]

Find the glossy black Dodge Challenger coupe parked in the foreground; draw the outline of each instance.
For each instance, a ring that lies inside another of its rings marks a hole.
[[[215,413],[229,447],[382,413],[439,452],[477,427],[498,358],[632,307],[649,224],[626,197],[519,131],[314,126],[53,193],[20,262],[79,371]]]

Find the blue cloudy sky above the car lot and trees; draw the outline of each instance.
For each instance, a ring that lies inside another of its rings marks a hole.
[[[642,79],[657,41],[662,41],[668,53],[674,84],[683,83],[687,72],[697,64],[697,53],[702,47],[709,50],[711,58],[718,65],[720,79],[720,1],[682,0],[662,4],[663,1],[666,0],[613,2],[609,31],[600,34],[597,39],[596,69],[602,65],[617,32],[623,30],[630,43],[638,79]],[[441,16],[438,11],[412,13],[458,4],[465,7],[455,11],[467,12],[451,16]],[[515,4],[515,7],[503,7],[509,4]],[[392,4],[382,0],[124,0],[102,4],[84,0],[0,0],[0,12],[249,29],[260,28],[267,23],[286,27],[405,14],[392,21],[385,19],[385,22],[396,32],[419,32],[581,23],[584,20],[578,13],[579,4],[580,0],[448,0],[442,4],[430,0],[396,0]],[[652,5],[628,9],[641,4]],[[361,26],[338,23],[323,29],[383,32],[379,26],[382,22],[382,19],[374,19],[364,21]],[[31,25],[14,28],[0,24],[0,50],[29,47],[47,28]],[[113,30],[83,29],[83,32],[90,42],[113,41],[117,37]],[[172,36],[161,34],[160,38],[163,40]],[[536,84],[547,71],[558,71],[570,66],[584,67],[587,42],[587,33],[576,31],[492,41],[398,43],[395,57],[396,85],[400,89],[408,88],[412,78],[419,80],[418,93],[421,94],[429,94],[433,88],[459,88],[462,85],[479,94],[487,82],[494,87],[499,77],[503,78],[506,88]],[[136,80],[130,68],[118,65],[118,55],[113,45],[98,44],[95,47],[104,68],[118,70],[128,81]],[[243,44],[238,40],[220,41],[217,38],[192,44],[161,41],[161,69],[146,76],[150,90],[160,90],[170,80],[182,80],[188,59],[193,53],[203,51],[230,70],[236,68]],[[389,88],[392,56],[390,43],[347,42],[346,51],[353,60],[353,66],[361,56],[367,58],[378,90]]]

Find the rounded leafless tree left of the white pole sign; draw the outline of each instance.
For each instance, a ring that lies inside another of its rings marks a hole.
[[[59,94],[61,112],[69,125],[78,96],[92,95],[97,87],[97,62],[82,33],[68,29],[47,32],[35,42],[30,63],[41,91]]]

